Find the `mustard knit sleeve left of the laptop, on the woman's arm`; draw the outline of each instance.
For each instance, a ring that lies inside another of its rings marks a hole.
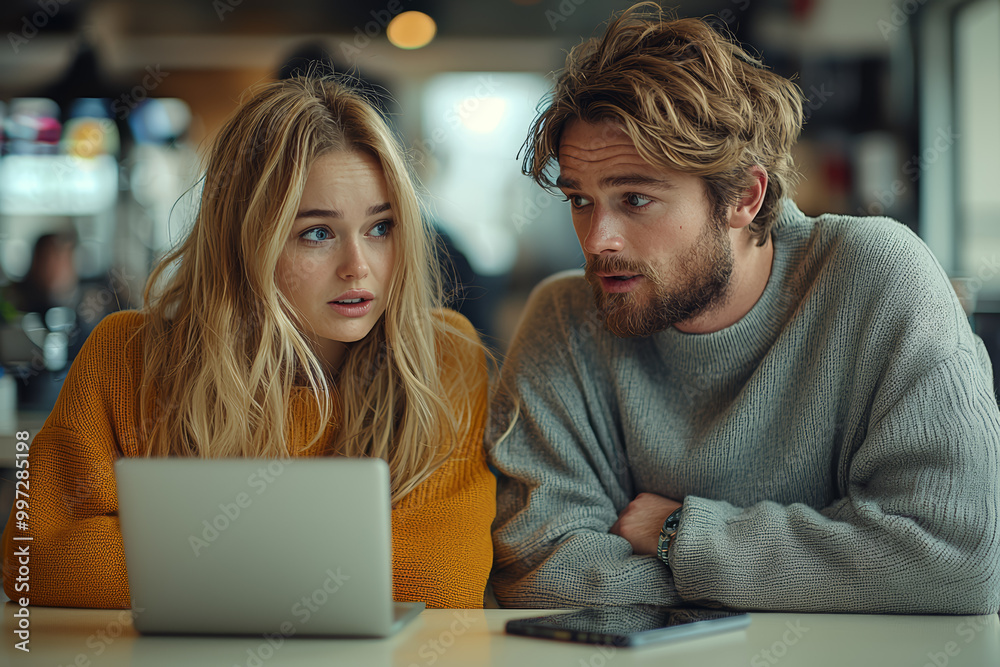
[[[4,591],[33,605],[125,608],[128,577],[118,524],[114,461],[134,442],[128,409],[137,383],[129,370],[139,348],[134,312],[105,318],[87,339],[55,408],[28,456],[27,530],[14,515],[3,535]],[[16,507],[15,507],[16,510]],[[13,537],[29,536],[30,541]],[[14,554],[27,545],[30,578],[16,581]]]

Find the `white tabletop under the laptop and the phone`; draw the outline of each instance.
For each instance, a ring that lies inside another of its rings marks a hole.
[[[30,653],[14,648],[14,612],[3,612],[0,665],[187,667],[996,667],[1000,619],[990,616],[752,614],[746,630],[641,649],[568,644],[503,633],[532,610],[429,609],[395,637],[140,637],[128,611],[29,607]]]

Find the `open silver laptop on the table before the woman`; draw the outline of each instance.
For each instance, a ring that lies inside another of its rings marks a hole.
[[[392,600],[380,459],[119,459],[135,628],[144,634],[385,637]]]

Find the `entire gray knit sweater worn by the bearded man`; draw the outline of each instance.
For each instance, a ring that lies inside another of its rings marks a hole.
[[[501,604],[1000,607],[1000,412],[941,267],[884,218],[786,202],[772,238],[711,334],[616,338],[578,272],[535,290],[488,436]],[[608,533],[644,491],[684,503],[669,569]]]

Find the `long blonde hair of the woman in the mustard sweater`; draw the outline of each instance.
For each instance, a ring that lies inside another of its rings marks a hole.
[[[385,314],[332,378],[275,268],[311,165],[337,151],[381,166],[395,263]],[[441,283],[431,238],[403,153],[362,94],[314,76],[252,90],[215,139],[194,228],[146,285],[148,454],[283,457],[298,433],[314,453],[385,459],[393,501],[405,496],[454,450],[468,416],[442,396],[435,341],[449,326],[432,312]],[[296,384],[312,390],[315,433],[287,418]],[[317,452],[337,394],[337,435]]]

